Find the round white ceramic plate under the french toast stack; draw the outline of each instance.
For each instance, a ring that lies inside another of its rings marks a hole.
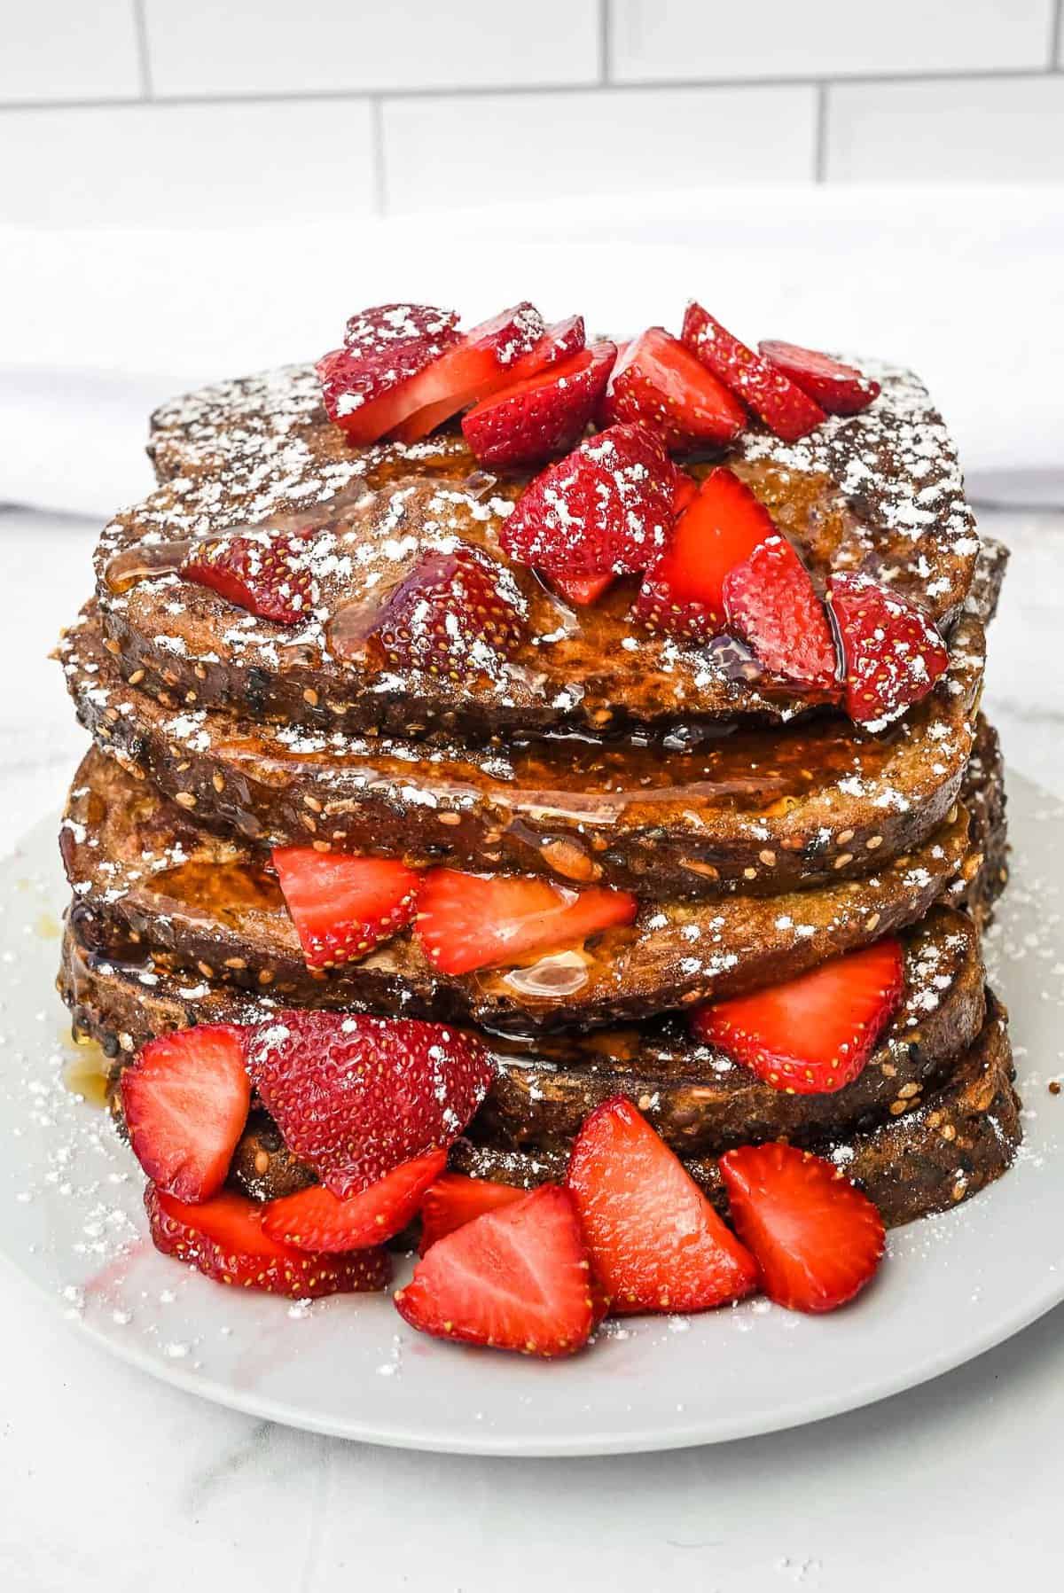
[[[56,822],[0,876],[0,1252],[83,1332],[155,1376],[271,1421],[421,1450],[602,1454],[814,1421],[978,1356],[1064,1298],[1064,808],[1010,785],[1013,883],[988,940],[1011,1008],[1026,1144],[1000,1184],[890,1236],[849,1309],[752,1301],[639,1319],[542,1364],[413,1333],[387,1295],[290,1305],[158,1255],[143,1179],[104,1112],[64,1086],[84,1059],[54,994],[65,890]]]

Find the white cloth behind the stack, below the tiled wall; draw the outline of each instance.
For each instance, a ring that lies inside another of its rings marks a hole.
[[[1064,190],[787,188],[454,209],[252,231],[0,228],[0,502],[105,516],[150,486],[147,411],[322,354],[352,311],[465,323],[518,299],[916,366],[968,475],[1064,462]]]

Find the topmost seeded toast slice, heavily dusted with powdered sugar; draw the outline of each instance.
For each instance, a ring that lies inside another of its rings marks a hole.
[[[828,417],[792,444],[753,427],[722,457],[814,578],[865,572],[919,601],[948,632],[980,548],[956,449],[911,373],[862,363],[882,382],[862,414]],[[148,691],[325,731],[440,728],[481,739],[788,722],[812,706],[773,685],[733,642],[650,636],[629,616],[626,581],[570,609],[499,546],[527,476],[481,470],[457,432],[409,448],[349,448],[309,366],[204,389],[153,424],[164,481],[104,530],[96,558],[105,637],[123,674]],[[177,573],[190,543],[248,526],[314,527],[306,623],[258,620]],[[481,660],[478,683],[376,667],[365,639],[387,593],[427,551],[460,545],[492,561],[526,624],[519,652],[508,663]]]

